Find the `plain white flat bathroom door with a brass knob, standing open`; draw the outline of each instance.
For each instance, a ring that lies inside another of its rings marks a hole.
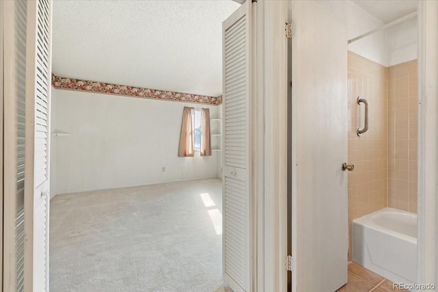
[[[347,42],[342,20],[318,1],[293,1],[293,291],[347,282]]]

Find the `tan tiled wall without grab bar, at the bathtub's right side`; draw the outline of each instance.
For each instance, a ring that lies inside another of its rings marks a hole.
[[[417,60],[388,68],[388,207],[417,213]]]

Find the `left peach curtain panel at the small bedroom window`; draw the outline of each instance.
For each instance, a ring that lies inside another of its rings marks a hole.
[[[179,157],[194,156],[194,131],[193,131],[194,107],[184,107],[181,133],[179,134]]]

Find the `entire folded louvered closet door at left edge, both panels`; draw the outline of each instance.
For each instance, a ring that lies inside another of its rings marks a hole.
[[[5,292],[49,291],[50,4],[0,4]]]

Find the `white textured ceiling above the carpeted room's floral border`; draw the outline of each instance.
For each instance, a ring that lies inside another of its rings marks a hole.
[[[222,21],[240,4],[53,1],[53,73],[159,90],[222,94]]]

